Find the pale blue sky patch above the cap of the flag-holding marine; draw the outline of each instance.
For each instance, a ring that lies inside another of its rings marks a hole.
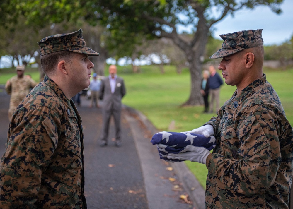
[[[284,0],[282,13],[273,13],[268,6],[258,6],[253,10],[240,10],[234,17],[226,16],[214,25],[214,37],[247,29],[263,29],[264,45],[282,44],[293,35],[293,1]]]

